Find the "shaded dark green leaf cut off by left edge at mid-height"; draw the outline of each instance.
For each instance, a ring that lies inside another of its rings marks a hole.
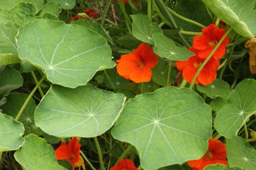
[[[0,71],[0,97],[8,95],[13,89],[18,89],[23,84],[23,77],[16,69],[5,67]]]

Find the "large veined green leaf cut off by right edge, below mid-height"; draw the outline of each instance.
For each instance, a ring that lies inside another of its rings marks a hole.
[[[256,113],[256,81],[245,79],[230,92],[228,104],[214,120],[216,130],[226,138],[234,138],[247,119]]]

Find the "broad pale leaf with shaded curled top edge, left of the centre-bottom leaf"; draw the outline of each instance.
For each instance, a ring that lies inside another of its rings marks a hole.
[[[36,108],[34,120],[54,136],[98,136],[113,126],[124,102],[124,95],[90,84],[76,89],[52,85]]]

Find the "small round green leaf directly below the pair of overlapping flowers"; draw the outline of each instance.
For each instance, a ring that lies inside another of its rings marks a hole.
[[[197,85],[197,89],[202,93],[206,93],[206,95],[208,97],[211,97],[212,99],[216,97],[222,97],[227,99],[230,93],[228,83],[226,83],[226,81],[223,81],[222,79],[216,79],[209,85]]]

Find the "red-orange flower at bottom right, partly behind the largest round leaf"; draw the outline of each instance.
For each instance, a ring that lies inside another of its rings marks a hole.
[[[208,151],[201,159],[187,161],[192,170],[203,170],[204,167],[212,164],[228,165],[228,161],[226,161],[225,144],[220,142],[220,140],[214,140],[214,138],[210,138],[208,142]]]

